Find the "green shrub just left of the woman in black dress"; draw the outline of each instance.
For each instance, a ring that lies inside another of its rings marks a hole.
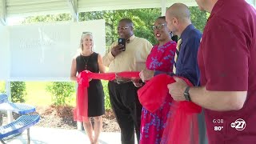
[[[51,82],[46,86],[54,106],[65,106],[70,103],[74,93],[74,82]]]

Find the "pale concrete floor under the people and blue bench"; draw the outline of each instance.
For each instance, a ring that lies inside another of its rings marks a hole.
[[[30,128],[30,144],[90,144],[84,131],[52,129],[38,126]],[[19,136],[6,143],[26,144],[26,130]],[[102,132],[99,138],[100,144],[121,144],[120,133]]]

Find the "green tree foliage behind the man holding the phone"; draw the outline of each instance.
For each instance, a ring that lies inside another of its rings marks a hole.
[[[151,26],[154,20],[161,15],[161,10],[135,9],[135,10],[107,10],[96,12],[85,12],[79,14],[80,21],[105,19],[106,21],[106,46],[118,39],[118,21],[122,18],[130,18],[134,22],[134,34],[138,37],[147,38],[153,44],[156,43]]]

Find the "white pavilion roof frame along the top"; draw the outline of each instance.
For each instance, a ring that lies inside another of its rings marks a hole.
[[[70,13],[73,22],[78,22],[80,12],[102,10],[161,8],[165,15],[166,7],[176,2],[197,6],[194,0],[0,0],[0,26],[8,25],[7,18],[64,13]],[[256,6],[256,0],[246,2]],[[10,96],[10,81],[5,81],[6,94]]]

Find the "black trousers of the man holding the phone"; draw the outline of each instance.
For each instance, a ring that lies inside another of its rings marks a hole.
[[[132,82],[109,82],[108,87],[110,103],[121,129],[122,144],[134,144],[134,128],[139,143],[142,105],[138,101],[138,88]]]

